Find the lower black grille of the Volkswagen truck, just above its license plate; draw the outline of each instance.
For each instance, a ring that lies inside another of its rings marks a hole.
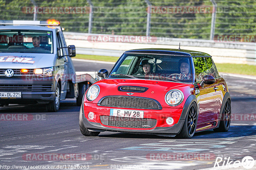
[[[0,84],[0,91],[45,92],[52,91],[52,84]]]

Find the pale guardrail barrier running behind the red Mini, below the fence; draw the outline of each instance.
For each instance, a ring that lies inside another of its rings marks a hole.
[[[247,42],[215,42],[213,40],[202,39],[177,39],[150,37],[153,41],[149,42],[129,42],[132,36],[126,35],[106,35],[106,34],[88,34],[77,32],[64,32],[67,45],[75,45],[78,54],[116,56],[131,49],[140,48],[173,48],[178,49],[179,43],[181,49],[202,51],[212,55],[216,63],[238,63],[256,65],[256,43]],[[111,41],[92,41],[92,36],[112,37]],[[115,38],[117,41],[115,41]],[[128,42],[120,42],[119,37],[128,38]],[[135,36],[133,36],[135,37]],[[143,39],[145,37],[139,37]],[[135,39],[135,38],[134,38]],[[113,42],[113,40],[115,42]]]

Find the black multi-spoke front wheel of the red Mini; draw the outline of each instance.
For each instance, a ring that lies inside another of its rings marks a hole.
[[[188,114],[185,118],[185,122],[180,133],[177,135],[178,138],[192,138],[196,131],[197,124],[197,109],[196,104],[192,103]]]

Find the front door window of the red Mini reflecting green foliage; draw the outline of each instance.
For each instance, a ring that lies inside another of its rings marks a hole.
[[[204,57],[193,57],[196,71],[196,82],[202,81],[205,75],[209,75],[209,70],[204,60]]]

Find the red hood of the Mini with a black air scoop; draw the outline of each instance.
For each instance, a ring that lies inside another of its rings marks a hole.
[[[184,94],[183,102],[176,106],[175,108],[183,108],[184,103],[188,96],[193,93],[194,85],[193,84],[185,84],[173,81],[156,81],[156,80],[141,80],[141,79],[103,79],[97,81],[96,83],[100,87],[100,94],[94,101],[88,101],[86,97],[84,98],[84,102],[89,103],[98,103],[102,97],[105,96],[132,96],[132,97],[146,97],[157,100],[162,107],[171,107],[165,103],[164,97],[169,90],[179,89]],[[129,92],[118,91],[119,86],[139,86],[139,87],[147,87],[148,90],[139,93],[139,92],[131,92],[132,95],[128,95]]]

